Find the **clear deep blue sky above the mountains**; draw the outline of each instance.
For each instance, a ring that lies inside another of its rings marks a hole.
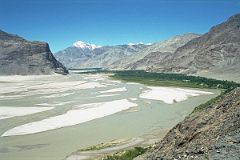
[[[237,13],[240,0],[0,0],[0,29],[57,52],[78,40],[117,45],[203,34]]]

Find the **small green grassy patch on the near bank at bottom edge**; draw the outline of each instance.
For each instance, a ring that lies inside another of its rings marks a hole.
[[[133,149],[108,155],[102,160],[133,160],[135,157],[146,152],[146,148],[134,147]]]

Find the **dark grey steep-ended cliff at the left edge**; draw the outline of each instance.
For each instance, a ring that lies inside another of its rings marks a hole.
[[[30,42],[0,30],[0,75],[67,74],[45,42]]]

